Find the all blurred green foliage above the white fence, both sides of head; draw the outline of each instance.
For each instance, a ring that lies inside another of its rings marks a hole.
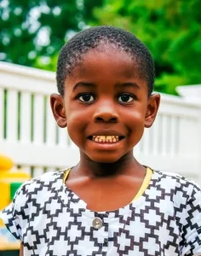
[[[200,0],[1,0],[0,61],[55,71],[68,38],[89,26],[133,32],[152,51],[155,90],[201,81]]]

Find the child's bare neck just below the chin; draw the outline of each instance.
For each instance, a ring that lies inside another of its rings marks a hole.
[[[135,176],[139,175],[139,172],[145,172],[145,167],[135,160],[133,152],[114,163],[98,163],[80,153],[80,162],[73,168],[73,172],[75,175],[88,177]]]

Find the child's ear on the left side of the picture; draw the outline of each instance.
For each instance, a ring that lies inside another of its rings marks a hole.
[[[63,97],[55,93],[52,94],[50,96],[50,105],[52,108],[52,113],[57,122],[57,125],[59,125],[60,128],[65,128],[67,124],[67,120],[66,120]]]

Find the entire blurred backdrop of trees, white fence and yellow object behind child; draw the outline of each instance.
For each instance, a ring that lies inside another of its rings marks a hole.
[[[0,210],[25,180],[78,163],[49,95],[60,48],[89,26],[133,32],[155,60],[162,102],[137,159],[201,184],[200,10],[200,0],[0,0]],[[0,219],[0,256],[19,247]]]

